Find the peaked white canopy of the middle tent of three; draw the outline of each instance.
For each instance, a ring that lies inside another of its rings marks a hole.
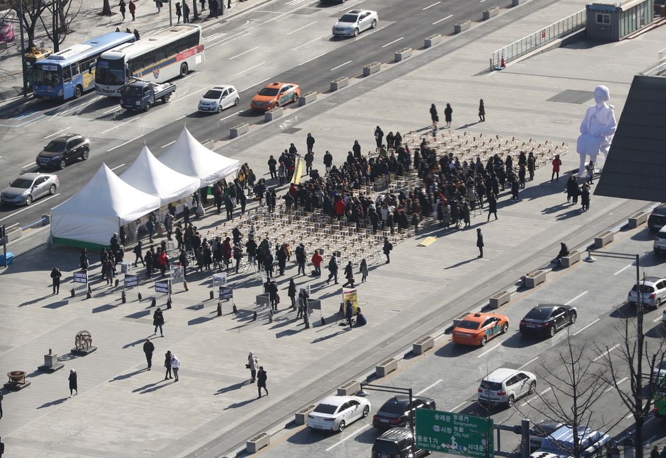
[[[161,205],[167,205],[191,195],[199,189],[199,180],[183,175],[159,162],[150,149],[144,146],[137,160],[122,173],[120,178],[139,191],[156,195]]]

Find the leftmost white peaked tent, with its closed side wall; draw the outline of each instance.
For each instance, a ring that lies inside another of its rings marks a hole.
[[[113,232],[159,208],[159,197],[121,180],[103,164],[78,193],[51,209],[54,243],[108,245]]]

